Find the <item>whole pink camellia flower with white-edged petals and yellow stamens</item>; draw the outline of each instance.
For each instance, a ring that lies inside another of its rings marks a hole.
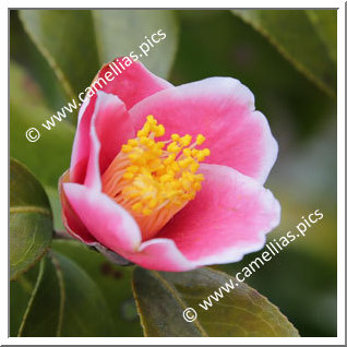
[[[105,65],[97,77],[110,73]],[[174,86],[132,62],[79,113],[60,179],[76,239],[158,271],[230,263],[260,250],[280,206],[263,187],[277,156],[239,81]]]

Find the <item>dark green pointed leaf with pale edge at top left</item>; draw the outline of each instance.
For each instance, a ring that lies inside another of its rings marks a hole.
[[[21,10],[20,19],[68,95],[84,91],[99,69],[91,11]]]

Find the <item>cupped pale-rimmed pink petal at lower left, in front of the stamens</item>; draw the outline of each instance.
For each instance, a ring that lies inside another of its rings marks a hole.
[[[99,243],[121,255],[140,247],[137,224],[123,207],[85,186],[63,183],[63,189],[75,214]]]

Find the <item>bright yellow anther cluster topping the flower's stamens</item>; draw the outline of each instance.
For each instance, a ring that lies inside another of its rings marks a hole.
[[[155,141],[164,134],[164,125],[148,116],[137,139],[129,140],[122,146],[121,152],[131,161],[123,174],[128,184],[122,195],[127,200],[136,200],[132,205],[135,213],[151,215],[164,204],[182,205],[193,200],[201,189],[204,177],[195,172],[210,149],[199,151],[194,146],[202,144],[205,137],[198,135],[193,145],[191,135],[172,134],[169,142]]]

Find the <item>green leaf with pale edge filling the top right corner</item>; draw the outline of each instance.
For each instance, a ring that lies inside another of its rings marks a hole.
[[[334,23],[328,24],[328,32],[327,26],[321,23],[336,21],[336,10],[326,10],[321,14],[314,12],[320,10],[310,13],[304,10],[232,10],[232,13],[267,37],[301,73],[335,96],[336,64],[331,57],[334,56],[332,49],[337,36],[336,31],[331,28]],[[315,16],[319,17],[319,24],[312,22]],[[328,44],[327,50],[326,41],[330,40],[332,44]]]

